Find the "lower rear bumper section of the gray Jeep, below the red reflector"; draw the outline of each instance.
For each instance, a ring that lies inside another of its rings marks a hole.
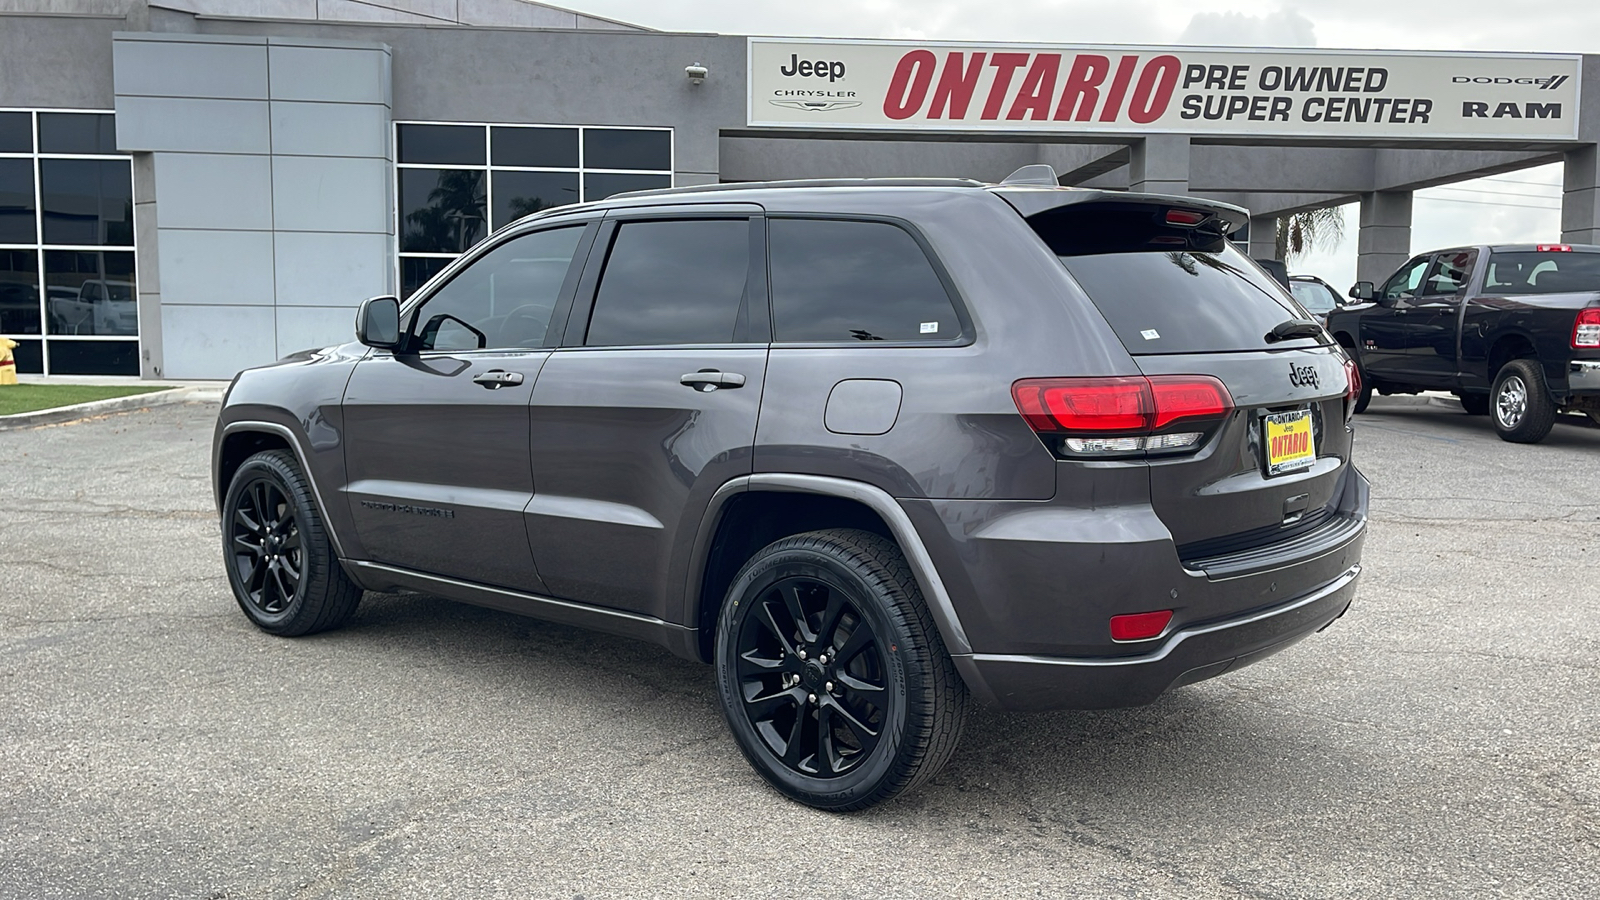
[[[1285,604],[1181,628],[1138,657],[966,653],[955,665],[979,701],[1002,709],[1142,706],[1173,687],[1248,666],[1322,631],[1349,609],[1360,573],[1352,565]]]

